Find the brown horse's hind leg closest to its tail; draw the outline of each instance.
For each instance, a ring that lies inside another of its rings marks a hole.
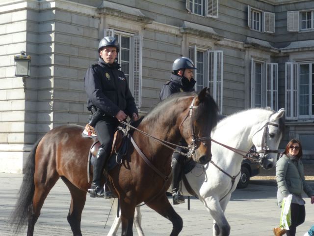
[[[45,182],[41,181],[41,177],[34,175],[35,190],[32,204],[28,208],[28,227],[27,227],[27,236],[32,236],[34,233],[35,223],[38,220],[40,215],[40,210],[44,205],[45,199],[47,198],[48,193],[58,180],[59,176],[53,175],[49,178],[49,181],[46,179]]]

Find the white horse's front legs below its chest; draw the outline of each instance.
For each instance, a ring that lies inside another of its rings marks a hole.
[[[225,217],[224,210],[229,202],[230,195],[224,199],[224,206],[220,205],[219,200],[213,197],[205,198],[205,200],[201,199],[204,203],[206,209],[211,214],[214,219],[213,225],[213,235],[214,236],[229,236],[230,235],[230,225]]]

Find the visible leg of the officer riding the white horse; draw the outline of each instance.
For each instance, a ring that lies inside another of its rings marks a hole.
[[[184,156],[178,152],[172,155],[172,198],[173,205],[184,203],[184,196],[180,192],[180,181],[182,177]]]

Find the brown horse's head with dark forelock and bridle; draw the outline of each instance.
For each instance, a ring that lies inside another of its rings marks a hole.
[[[218,108],[207,88],[190,98],[180,125],[194,161],[206,164],[211,159],[211,129],[217,123]]]

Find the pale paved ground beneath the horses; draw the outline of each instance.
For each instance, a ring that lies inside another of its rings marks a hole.
[[[8,218],[16,202],[16,195],[22,182],[22,175],[0,173],[0,236],[12,236]],[[314,182],[310,182],[314,187]],[[246,189],[237,189],[226,210],[231,225],[231,236],[272,236],[272,228],[279,223],[280,208],[276,206],[277,187],[267,180],[252,180]],[[35,236],[72,236],[66,216],[70,204],[70,194],[65,184],[59,180],[52,188],[35,225]],[[297,236],[314,224],[314,205],[306,199],[306,221],[297,229]],[[175,206],[183,217],[182,236],[212,236],[212,217],[197,199],[191,200],[191,210],[187,204]],[[82,215],[82,233],[87,236],[106,235],[114,215],[108,217],[110,201],[87,198]],[[171,232],[171,223],[152,211],[142,207],[142,226],[146,236],[164,236]],[[121,233],[121,231],[119,231]],[[24,232],[21,235],[26,235]],[[137,234],[134,233],[136,236]]]

